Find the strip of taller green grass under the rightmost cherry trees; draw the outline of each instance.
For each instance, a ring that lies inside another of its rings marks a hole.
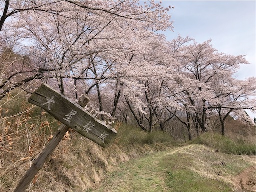
[[[191,143],[203,144],[228,154],[256,155],[256,142],[253,143],[242,137],[231,139],[218,133],[203,133]]]

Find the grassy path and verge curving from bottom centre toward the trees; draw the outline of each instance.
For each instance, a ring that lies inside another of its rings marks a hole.
[[[93,192],[232,192],[253,157],[187,145],[120,164]]]

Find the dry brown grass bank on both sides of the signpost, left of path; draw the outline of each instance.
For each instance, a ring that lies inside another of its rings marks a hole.
[[[25,100],[9,95],[0,105],[0,192],[11,192],[54,134],[58,122]],[[117,124],[115,129],[119,129]],[[126,145],[117,139],[106,149],[72,131],[60,142],[28,186],[30,192],[77,192],[98,185],[118,163],[165,145]]]

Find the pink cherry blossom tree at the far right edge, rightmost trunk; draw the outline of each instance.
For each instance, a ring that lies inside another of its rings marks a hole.
[[[215,97],[210,101],[209,108],[216,109],[221,123],[221,133],[225,135],[225,120],[229,115],[238,117],[242,122],[252,124],[252,120],[244,115],[244,110],[255,112],[256,78],[237,80],[222,78],[216,82]]]

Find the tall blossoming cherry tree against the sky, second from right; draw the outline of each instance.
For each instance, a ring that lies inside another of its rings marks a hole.
[[[187,86],[184,86],[184,81],[177,82],[184,88],[182,94],[186,98],[186,106],[192,110],[190,113],[203,132],[207,128],[207,111],[209,102],[214,98],[215,83],[231,77],[240,64],[248,63],[244,56],[218,53],[210,42],[198,44],[194,41],[184,46],[176,56],[181,64],[179,72],[191,79]]]

